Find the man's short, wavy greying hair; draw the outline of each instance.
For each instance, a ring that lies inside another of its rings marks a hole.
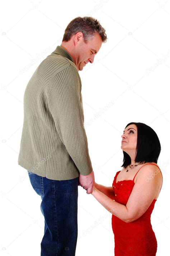
[[[84,41],[91,40],[95,33],[98,33],[102,39],[102,42],[107,41],[107,35],[105,29],[100,25],[99,21],[92,17],[77,17],[67,25],[62,41],[69,41],[71,36],[82,32]]]

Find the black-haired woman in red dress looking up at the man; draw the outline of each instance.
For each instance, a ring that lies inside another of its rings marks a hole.
[[[157,241],[150,217],[163,180],[156,164],[160,141],[151,127],[131,122],[123,131],[121,149],[123,168],[112,187],[95,182],[91,194],[112,213],[115,256],[154,256]]]

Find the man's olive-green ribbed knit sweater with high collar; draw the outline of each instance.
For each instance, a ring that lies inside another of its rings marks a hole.
[[[51,180],[70,180],[92,171],[81,80],[61,46],[41,62],[25,89],[18,164]]]

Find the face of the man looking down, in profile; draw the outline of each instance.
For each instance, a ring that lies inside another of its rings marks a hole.
[[[88,42],[84,42],[84,38],[81,38],[80,42],[77,44],[76,53],[76,66],[77,70],[82,70],[88,62],[93,63],[94,56],[100,50],[102,44],[102,39],[98,33],[95,33],[93,39]]]

